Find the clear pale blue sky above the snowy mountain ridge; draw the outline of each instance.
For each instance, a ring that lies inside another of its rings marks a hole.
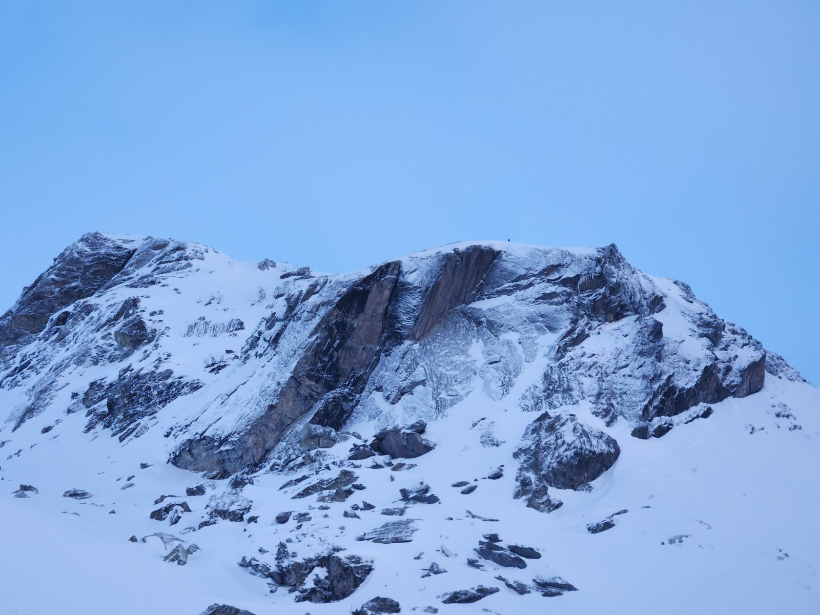
[[[0,304],[89,230],[615,243],[820,383],[818,2],[0,2]]]

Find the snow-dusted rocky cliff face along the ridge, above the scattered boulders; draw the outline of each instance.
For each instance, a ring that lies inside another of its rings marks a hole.
[[[87,412],[87,429],[133,435],[150,426],[139,421],[204,388],[212,392],[195,405],[206,412],[172,430],[171,462],[225,477],[272,461],[277,447],[298,453],[307,425],[328,428],[332,442],[354,417],[384,426],[430,420],[476,386],[524,412],[589,403],[607,425],[620,419],[648,438],[699,404],[755,393],[765,379],[756,340],[688,286],[636,271],[613,245],[456,244],[353,276],[305,267],[277,276],[268,261],[255,281],[274,288],[257,286],[248,302],[259,307],[255,327],[206,316],[185,331],[162,326],[165,310],[145,289],[205,281],[216,266],[209,256],[217,255],[196,244],[99,233],[66,248],[0,321],[0,386],[31,387],[11,412],[15,426],[36,416],[76,367],[110,363],[116,370],[86,385],[71,377],[69,411]],[[224,300],[219,291],[197,304],[214,300]],[[245,341],[230,358],[180,375],[167,367],[175,336],[238,331]],[[526,367],[531,385],[510,399]],[[203,382],[203,371],[218,377]]]

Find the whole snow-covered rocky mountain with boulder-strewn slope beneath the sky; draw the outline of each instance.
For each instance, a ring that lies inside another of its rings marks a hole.
[[[818,613],[818,410],[614,245],[84,235],[0,317],[0,611]]]

